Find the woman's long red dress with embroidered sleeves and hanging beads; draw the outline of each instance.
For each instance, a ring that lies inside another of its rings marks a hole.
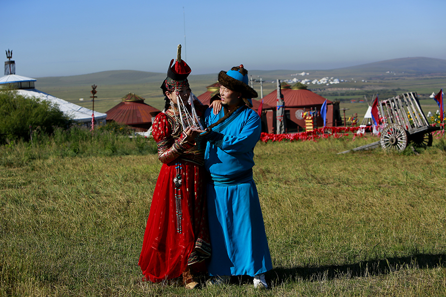
[[[200,107],[204,108],[197,106],[197,113]],[[172,107],[156,116],[152,135],[163,166],[155,186],[138,264],[145,279],[160,282],[181,276],[188,264],[209,257],[211,246],[200,143],[184,142],[186,134],[178,111]]]

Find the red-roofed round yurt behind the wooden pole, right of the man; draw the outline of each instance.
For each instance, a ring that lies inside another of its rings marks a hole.
[[[283,96],[285,105],[286,132],[297,132],[305,129],[305,119],[303,117],[306,111],[321,111],[322,104],[326,100],[324,97],[307,90],[307,86],[296,83],[289,86],[286,83],[280,85],[280,92]],[[277,90],[271,92],[264,98],[264,104],[276,106]],[[341,124],[339,113],[339,104],[327,100],[327,126],[338,126]],[[321,116],[317,118],[317,126],[324,125]]]

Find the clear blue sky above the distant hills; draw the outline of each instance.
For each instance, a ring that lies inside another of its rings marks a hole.
[[[34,78],[166,72],[178,44],[192,74],[446,59],[445,0],[0,2],[0,50],[12,49],[16,74]]]

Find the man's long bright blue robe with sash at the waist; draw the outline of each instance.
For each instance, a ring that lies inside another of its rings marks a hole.
[[[206,124],[221,117],[209,108]],[[257,188],[252,179],[254,147],[261,121],[246,105],[207,136],[205,168],[212,255],[208,271],[216,275],[250,275],[272,269]]]

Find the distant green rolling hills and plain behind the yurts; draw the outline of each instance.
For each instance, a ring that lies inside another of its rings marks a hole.
[[[305,71],[308,75],[300,76]],[[334,77],[342,80],[336,85],[313,85],[308,88],[330,100],[363,99],[376,93],[396,94],[405,91],[417,92],[421,98],[428,98],[432,92],[445,87],[446,60],[427,57],[408,57],[379,61],[357,66],[329,70],[250,70],[253,79],[260,77],[264,81],[264,96],[274,91],[276,79],[321,79]],[[145,102],[161,109],[164,105],[160,85],[166,78],[165,73],[115,70],[76,76],[38,78],[36,88],[61,99],[91,108],[91,86],[97,85],[98,98],[95,110],[106,112],[120,102],[128,93],[135,93],[145,98]],[[206,87],[217,81],[217,73],[190,75],[189,82],[195,95],[206,92]],[[254,89],[261,94],[258,82]],[[79,99],[84,99],[80,101]],[[366,106],[367,107],[367,106]],[[366,108],[365,107],[365,108]]]

